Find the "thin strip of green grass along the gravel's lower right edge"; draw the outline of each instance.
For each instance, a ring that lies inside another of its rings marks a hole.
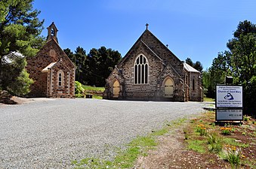
[[[127,148],[117,151],[116,157],[112,161],[106,161],[100,158],[84,158],[81,161],[72,161],[75,168],[131,168],[134,166],[135,161],[140,155],[146,156],[150,149],[155,149],[158,145],[157,137],[168,133],[171,128],[181,125],[186,119],[177,119],[172,122],[165,122],[163,128],[153,130],[146,136],[138,136],[128,143]]]

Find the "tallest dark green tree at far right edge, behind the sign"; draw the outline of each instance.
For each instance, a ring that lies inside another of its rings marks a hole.
[[[227,47],[232,53],[230,65],[236,84],[244,87],[245,113],[256,110],[256,25],[245,20],[240,22]]]

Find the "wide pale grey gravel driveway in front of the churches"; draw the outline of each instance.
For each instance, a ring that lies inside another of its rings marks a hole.
[[[0,168],[70,168],[113,158],[137,135],[203,112],[205,103],[38,98],[0,105]]]

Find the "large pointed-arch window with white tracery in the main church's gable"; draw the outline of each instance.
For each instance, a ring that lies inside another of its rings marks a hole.
[[[140,54],[134,63],[134,84],[148,83],[149,64],[147,58]]]

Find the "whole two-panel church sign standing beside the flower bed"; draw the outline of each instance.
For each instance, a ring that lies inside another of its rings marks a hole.
[[[216,121],[242,120],[242,86],[216,86]]]

